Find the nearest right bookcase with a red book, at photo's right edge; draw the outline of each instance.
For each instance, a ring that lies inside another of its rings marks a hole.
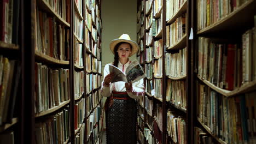
[[[227,2],[193,4],[195,143],[255,143],[256,1]]]

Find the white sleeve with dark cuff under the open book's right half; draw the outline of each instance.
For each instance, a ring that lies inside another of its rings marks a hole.
[[[129,97],[133,99],[138,99],[138,97],[142,97],[145,94],[145,88],[143,79],[132,83],[132,89],[130,91],[127,91]]]

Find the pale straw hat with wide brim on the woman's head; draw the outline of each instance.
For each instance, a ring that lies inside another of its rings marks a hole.
[[[126,42],[126,43],[131,44],[132,52],[130,53],[129,57],[134,55],[138,51],[138,49],[139,49],[138,44],[135,41],[132,41],[128,34],[122,34],[118,39],[113,39],[110,42],[110,45],[109,45],[110,46],[110,50],[114,54],[115,54],[115,52],[114,52],[115,45],[117,45],[118,43],[121,43],[121,42]]]

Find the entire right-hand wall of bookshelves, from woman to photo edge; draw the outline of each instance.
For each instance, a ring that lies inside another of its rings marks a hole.
[[[147,75],[142,143],[255,143],[256,2],[161,2],[138,1],[138,23],[142,14],[146,22],[137,24]]]

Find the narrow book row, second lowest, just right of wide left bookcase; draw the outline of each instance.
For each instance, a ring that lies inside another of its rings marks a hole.
[[[83,124],[85,118],[85,99],[80,99],[74,105],[74,129],[77,130]]]

